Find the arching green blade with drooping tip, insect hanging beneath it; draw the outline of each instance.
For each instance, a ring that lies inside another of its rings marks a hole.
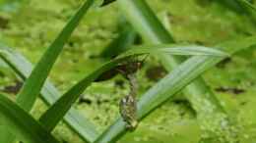
[[[68,90],[54,105],[50,107],[50,109],[42,115],[39,119],[42,124],[45,125],[47,130],[52,130],[56,124],[65,116],[65,114],[69,111],[71,106],[75,103],[75,101],[79,98],[79,96],[84,92],[84,90],[96,80],[96,78],[103,73],[104,71],[109,71],[116,67],[121,62],[127,61],[129,58],[134,56],[140,56],[143,54],[151,54],[151,53],[169,53],[174,55],[201,55],[205,53],[206,55],[212,54],[215,56],[226,56],[223,52],[214,50],[210,48],[202,48],[202,47],[178,47],[177,45],[157,45],[156,46],[138,46],[134,47],[131,50],[121,54],[114,60],[104,64],[99,67],[96,71],[93,71],[91,74],[83,78],[77,84],[75,84],[70,90]],[[175,48],[176,46],[176,48]],[[170,48],[173,47],[173,48]],[[202,50],[199,50],[201,49]],[[197,53],[198,52],[198,53]]]

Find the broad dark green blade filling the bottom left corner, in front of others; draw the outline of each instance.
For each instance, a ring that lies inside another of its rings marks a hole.
[[[27,143],[58,143],[26,111],[3,95],[0,95],[0,125],[8,126],[19,139]]]

